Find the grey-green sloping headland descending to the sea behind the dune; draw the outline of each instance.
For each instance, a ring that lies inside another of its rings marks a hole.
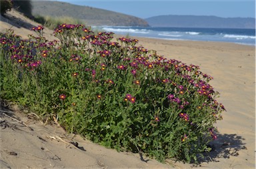
[[[31,1],[32,14],[53,17],[74,17],[91,26],[141,26],[147,27],[147,21],[131,15],[125,15],[105,9],[73,5],[59,1]]]

